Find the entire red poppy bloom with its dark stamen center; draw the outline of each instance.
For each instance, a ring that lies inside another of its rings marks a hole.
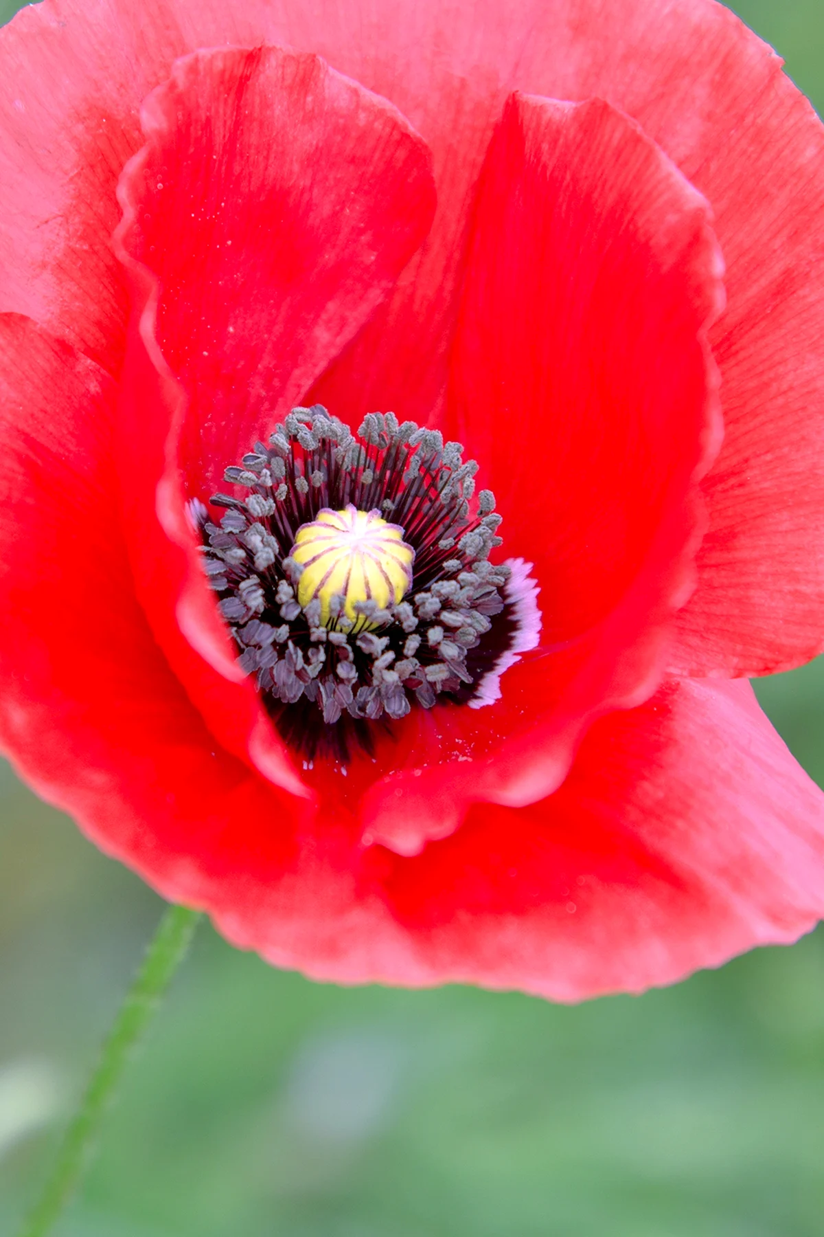
[[[0,736],[233,943],[637,991],[804,931],[824,141],[712,0],[0,40]]]

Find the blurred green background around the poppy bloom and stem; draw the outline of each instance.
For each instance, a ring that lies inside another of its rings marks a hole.
[[[735,7],[820,110],[822,0]],[[759,695],[824,784],[824,664]],[[161,902],[2,764],[0,818],[6,1233]],[[820,930],[566,1008],[309,983],[204,928],[59,1233],[820,1237],[823,1152]]]

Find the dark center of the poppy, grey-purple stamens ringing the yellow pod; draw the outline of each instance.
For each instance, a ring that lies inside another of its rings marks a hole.
[[[393,413],[355,435],[320,404],[294,408],[226,469],[248,495],[212,496],[220,524],[191,503],[240,663],[308,760],[372,752],[376,724],[414,706],[492,703],[535,643],[535,586],[520,560],[489,563],[500,516],[462,455]]]

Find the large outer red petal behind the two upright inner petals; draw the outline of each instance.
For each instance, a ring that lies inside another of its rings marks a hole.
[[[352,417],[394,404],[425,419],[442,392],[472,187],[505,96],[598,95],[642,124],[712,202],[728,263],[714,336],[728,444],[681,661],[757,672],[820,648],[822,127],[770,49],[712,0],[27,7],[0,33],[0,308],[117,369],[125,299],[109,229],[140,103],[174,57],[259,42],[324,54],[392,99],[435,153],[440,209],[420,266],[324,383]]]

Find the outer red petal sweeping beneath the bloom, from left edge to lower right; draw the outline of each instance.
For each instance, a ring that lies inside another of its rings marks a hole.
[[[130,600],[105,375],[19,319],[0,360],[0,741],[167,897],[317,977],[563,999],[668,982],[822,913],[820,792],[744,684],[672,684],[602,720],[557,794],[476,808],[414,860],[295,816],[215,750]],[[84,432],[49,439],[64,401]]]

